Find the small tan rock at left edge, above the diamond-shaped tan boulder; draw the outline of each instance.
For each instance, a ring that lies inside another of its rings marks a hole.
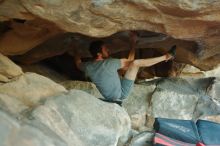
[[[7,82],[22,73],[22,69],[18,65],[0,53],[0,81]]]

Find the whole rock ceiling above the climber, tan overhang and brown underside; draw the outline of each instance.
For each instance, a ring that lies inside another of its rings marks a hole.
[[[163,53],[177,44],[176,61],[210,70],[220,62],[219,15],[218,0],[0,0],[0,51],[31,63],[73,54],[70,45],[87,56],[102,37],[117,53],[136,30],[137,48]]]

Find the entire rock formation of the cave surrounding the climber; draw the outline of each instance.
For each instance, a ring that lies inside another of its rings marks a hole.
[[[220,123],[220,20],[208,0],[0,0],[1,146],[152,146],[155,118]],[[11,10],[11,11],[9,11]],[[13,11],[12,11],[13,10]],[[139,69],[119,106],[77,69],[103,40],[113,58],[166,54]],[[4,131],[4,132],[2,132]]]

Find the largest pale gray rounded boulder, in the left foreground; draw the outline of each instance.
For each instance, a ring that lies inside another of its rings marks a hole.
[[[130,118],[123,108],[80,90],[48,97],[17,120],[9,115],[26,106],[17,101],[6,108],[16,100],[0,97],[2,146],[122,146],[130,136]]]

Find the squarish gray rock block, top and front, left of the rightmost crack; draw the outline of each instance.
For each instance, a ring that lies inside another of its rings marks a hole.
[[[152,95],[153,117],[192,119],[199,95],[196,87],[181,78],[164,78],[157,82]]]

